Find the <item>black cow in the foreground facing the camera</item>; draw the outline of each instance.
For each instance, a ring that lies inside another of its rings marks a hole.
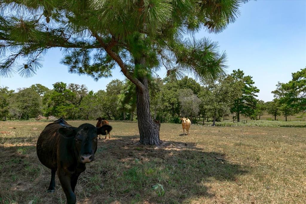
[[[54,192],[55,172],[65,192],[67,203],[75,204],[74,189],[85,164],[94,160],[98,145],[98,134],[106,135],[109,125],[100,128],[85,123],[72,127],[64,119],[48,124],[39,135],[36,152],[39,161],[51,169],[48,192]]]

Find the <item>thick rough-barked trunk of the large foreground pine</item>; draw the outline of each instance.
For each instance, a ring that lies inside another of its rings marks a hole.
[[[150,113],[150,98],[147,78],[140,78],[139,81],[145,89],[140,90],[136,86],[137,96],[137,121],[140,134],[139,142],[143,145],[161,145],[159,139],[159,123],[155,123]]]

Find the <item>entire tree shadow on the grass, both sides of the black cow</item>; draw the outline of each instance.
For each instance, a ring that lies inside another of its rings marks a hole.
[[[247,173],[244,166],[218,159],[226,155],[205,152],[196,143],[164,141],[162,146],[155,147],[136,144],[138,140],[137,135],[114,135],[98,142],[95,161],[86,165],[76,186],[79,203],[182,203],[199,197],[214,199],[209,186],[216,182],[235,183],[237,176]],[[35,150],[35,144],[4,148],[2,153],[7,158],[0,163],[4,182],[1,197],[17,203],[65,202],[57,176],[56,192],[45,192],[50,171],[40,164]]]

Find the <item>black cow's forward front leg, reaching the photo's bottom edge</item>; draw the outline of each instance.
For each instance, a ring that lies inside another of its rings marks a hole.
[[[61,182],[62,188],[67,198],[67,204],[75,204],[76,203],[76,195],[74,194],[71,188],[71,177],[65,175],[64,171],[58,171],[58,178]]]

